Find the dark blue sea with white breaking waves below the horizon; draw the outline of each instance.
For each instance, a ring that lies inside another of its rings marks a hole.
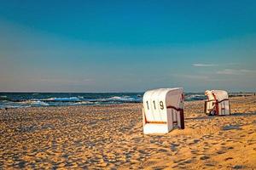
[[[141,103],[144,93],[0,93],[0,109],[67,106],[67,105],[118,105]],[[231,95],[241,95],[233,93]],[[185,94],[185,101],[207,99],[204,93]]]

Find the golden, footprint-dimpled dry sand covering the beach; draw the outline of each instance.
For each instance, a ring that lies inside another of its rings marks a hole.
[[[0,169],[256,169],[256,97],[231,116],[185,103],[185,129],[143,135],[140,104],[0,111]]]

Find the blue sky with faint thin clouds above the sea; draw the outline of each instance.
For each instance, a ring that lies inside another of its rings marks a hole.
[[[256,91],[256,2],[0,1],[0,91]]]

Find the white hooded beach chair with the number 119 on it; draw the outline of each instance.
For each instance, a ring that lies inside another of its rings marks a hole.
[[[184,128],[183,88],[160,88],[143,95],[143,133],[169,133]]]

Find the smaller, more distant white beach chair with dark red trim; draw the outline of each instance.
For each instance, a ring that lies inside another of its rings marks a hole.
[[[205,113],[208,116],[230,115],[229,95],[224,90],[207,90],[205,101]]]

